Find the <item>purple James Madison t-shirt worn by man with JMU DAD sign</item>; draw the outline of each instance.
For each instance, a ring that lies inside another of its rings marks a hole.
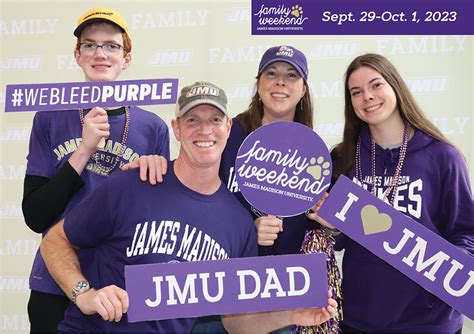
[[[95,247],[88,277],[96,289],[125,287],[124,266],[227,259],[257,255],[250,214],[221,184],[212,195],[184,186],[170,163],[163,183],[139,180],[138,170],[109,178],[65,218],[68,239],[80,248]],[[61,331],[190,332],[195,319],[128,323],[86,316],[73,304]]]

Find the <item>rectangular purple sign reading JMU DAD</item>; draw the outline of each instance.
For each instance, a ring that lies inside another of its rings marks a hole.
[[[125,267],[130,322],[327,305],[322,253]]]

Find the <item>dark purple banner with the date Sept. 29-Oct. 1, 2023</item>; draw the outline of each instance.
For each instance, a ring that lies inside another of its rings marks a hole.
[[[252,35],[472,35],[472,0],[252,0]]]

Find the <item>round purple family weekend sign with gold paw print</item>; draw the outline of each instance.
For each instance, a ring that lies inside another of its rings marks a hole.
[[[331,181],[332,164],[324,141],[296,122],[261,126],[242,143],[236,180],[258,210],[289,217],[310,209]]]

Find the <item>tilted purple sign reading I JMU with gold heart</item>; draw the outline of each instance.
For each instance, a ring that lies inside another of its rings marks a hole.
[[[474,257],[345,176],[339,177],[319,215],[445,303],[474,319]]]

